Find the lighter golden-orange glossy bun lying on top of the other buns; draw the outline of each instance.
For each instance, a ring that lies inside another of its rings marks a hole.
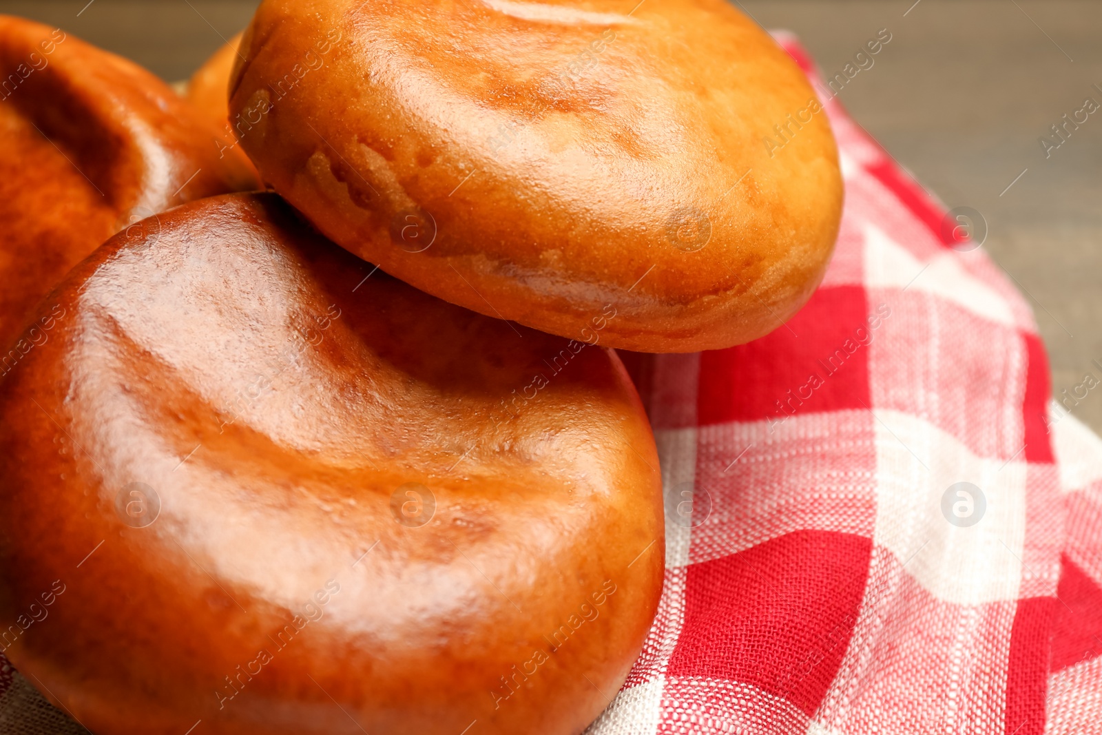
[[[230,118],[264,181],[487,315],[577,338],[613,304],[604,344],[726,347],[833,248],[825,115],[725,0],[264,0],[242,54]]]

